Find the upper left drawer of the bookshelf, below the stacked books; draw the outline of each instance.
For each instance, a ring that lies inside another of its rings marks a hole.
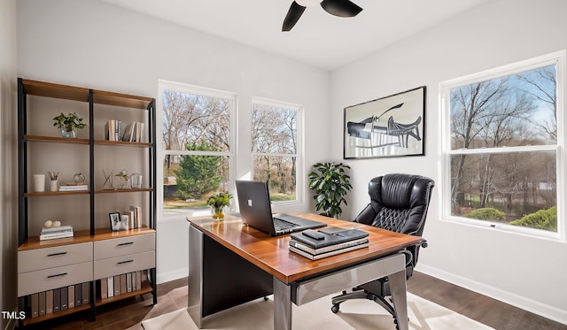
[[[92,261],[92,242],[18,252],[18,272],[33,272]]]

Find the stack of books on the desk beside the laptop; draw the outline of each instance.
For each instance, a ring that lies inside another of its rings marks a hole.
[[[321,259],[369,246],[369,234],[359,229],[327,227],[291,234],[290,251],[311,260]]]

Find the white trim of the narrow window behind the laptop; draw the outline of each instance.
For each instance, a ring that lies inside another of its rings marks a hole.
[[[303,136],[304,136],[304,127],[303,127],[303,113],[304,113],[304,109],[302,105],[299,104],[291,104],[289,102],[282,102],[282,101],[276,101],[276,100],[272,100],[272,99],[268,99],[268,98],[264,98],[264,97],[260,97],[260,96],[252,96],[252,104],[261,104],[261,105],[266,105],[266,106],[272,106],[272,107],[277,107],[277,108],[283,108],[283,109],[290,109],[290,110],[294,110],[297,111],[298,113],[298,117],[297,117],[297,147],[298,150],[296,151],[296,200],[294,201],[280,201],[280,202],[273,202],[274,204],[276,204],[277,206],[293,206],[293,205],[299,205],[299,204],[303,204],[304,201],[304,196],[305,196],[305,175],[304,175],[304,166],[303,166],[303,162],[304,162],[304,158],[305,155],[303,154],[303,150],[304,149],[304,142],[303,142]],[[252,109],[252,108],[251,108]],[[252,150],[252,149],[251,149]],[[251,155],[251,165],[253,166],[253,160],[254,160],[254,156],[283,156],[283,157],[290,157],[290,154],[265,154],[265,153],[256,153],[256,152],[252,152]],[[251,173],[252,173],[252,168],[250,169]]]

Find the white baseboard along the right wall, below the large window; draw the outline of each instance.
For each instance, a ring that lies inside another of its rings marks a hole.
[[[516,306],[524,311],[531,311],[532,313],[538,314],[544,318],[553,319],[556,322],[567,325],[567,311],[562,311],[554,306],[549,306],[545,303],[527,299],[524,296],[510,293],[508,291],[501,290],[500,288],[493,288],[475,280],[470,280],[428,265],[417,265],[416,271],[423,272],[440,280],[445,280],[462,288],[468,288],[481,295],[487,295],[493,299],[500,300],[503,303],[509,303]]]

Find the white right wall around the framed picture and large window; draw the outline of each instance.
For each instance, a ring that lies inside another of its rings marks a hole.
[[[438,184],[418,269],[567,324],[567,244],[454,224],[439,210],[439,82],[567,49],[565,12],[563,0],[482,4],[333,72],[330,117],[331,145],[342,145],[344,107],[426,85],[425,156],[347,161],[355,189],[346,214],[354,217],[368,203],[374,176],[429,176]],[[340,148],[330,151],[342,157]]]

